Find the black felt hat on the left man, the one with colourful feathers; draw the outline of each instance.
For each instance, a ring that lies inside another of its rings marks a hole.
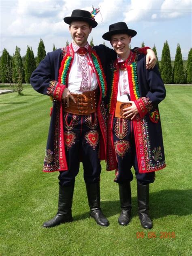
[[[70,17],[64,17],[65,23],[69,24],[72,21],[86,21],[87,23],[92,26],[92,28],[95,28],[97,26],[97,22],[92,18],[91,13],[84,10],[73,10]]]

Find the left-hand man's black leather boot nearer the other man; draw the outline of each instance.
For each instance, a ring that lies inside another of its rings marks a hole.
[[[87,198],[90,207],[90,216],[94,218],[98,225],[109,226],[109,221],[103,215],[100,208],[100,184],[86,183]]]

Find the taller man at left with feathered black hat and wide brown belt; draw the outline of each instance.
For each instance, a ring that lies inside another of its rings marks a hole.
[[[100,160],[106,159],[107,149],[105,71],[107,61],[116,58],[116,54],[105,45],[91,47],[87,43],[92,28],[97,26],[90,12],[74,10],[64,21],[69,24],[73,42],[48,53],[30,79],[37,92],[53,100],[43,171],[60,172],[58,213],[43,226],[72,221],[73,191],[80,161],[90,215],[97,224],[109,226],[100,208],[99,184]]]

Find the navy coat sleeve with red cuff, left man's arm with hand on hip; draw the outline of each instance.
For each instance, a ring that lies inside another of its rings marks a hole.
[[[61,62],[61,51],[47,53],[32,73],[30,83],[39,93],[61,100],[65,85],[58,82],[58,70]]]

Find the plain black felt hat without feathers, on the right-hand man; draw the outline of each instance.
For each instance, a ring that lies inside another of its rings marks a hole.
[[[109,25],[109,32],[102,35],[102,38],[110,41],[111,36],[115,34],[128,34],[129,36],[136,36],[137,32],[132,29],[128,29],[128,26],[125,22],[117,22]]]

